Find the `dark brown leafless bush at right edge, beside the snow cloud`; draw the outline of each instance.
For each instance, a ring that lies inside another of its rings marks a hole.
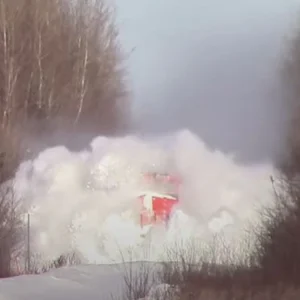
[[[275,205],[262,211],[253,256],[269,283],[300,286],[300,181],[280,178]]]

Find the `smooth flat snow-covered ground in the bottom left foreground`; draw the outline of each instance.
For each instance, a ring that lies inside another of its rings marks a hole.
[[[131,270],[136,273],[139,264],[133,264]],[[0,300],[121,300],[124,274],[122,264],[81,265],[3,279]]]

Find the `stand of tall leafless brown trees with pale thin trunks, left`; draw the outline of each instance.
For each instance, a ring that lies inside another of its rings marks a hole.
[[[16,132],[69,146],[69,133],[126,130],[124,57],[104,0],[0,0],[0,45],[0,152],[23,155],[2,149]]]

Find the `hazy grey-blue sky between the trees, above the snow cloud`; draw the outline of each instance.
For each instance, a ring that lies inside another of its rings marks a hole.
[[[273,158],[278,68],[300,0],[115,0],[135,130],[188,128],[245,161]],[[299,14],[300,15],[300,14]]]

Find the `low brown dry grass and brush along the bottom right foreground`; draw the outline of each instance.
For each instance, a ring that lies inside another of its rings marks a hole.
[[[300,296],[300,287],[287,282],[269,283],[260,269],[212,262],[195,264],[190,252],[179,251],[180,257],[172,262],[124,263],[122,299],[292,300]]]

